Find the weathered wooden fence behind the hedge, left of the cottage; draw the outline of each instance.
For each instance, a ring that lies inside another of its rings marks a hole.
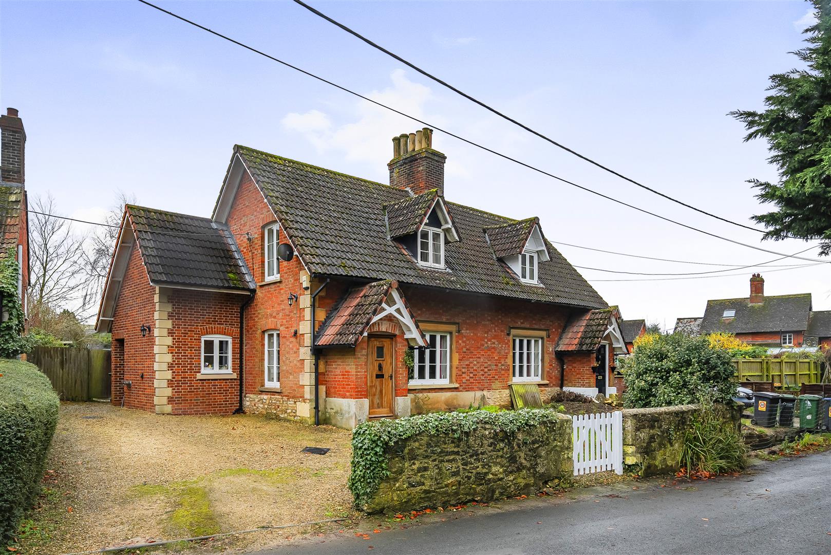
[[[63,401],[110,397],[111,354],[105,349],[36,347],[27,360],[47,374]]]

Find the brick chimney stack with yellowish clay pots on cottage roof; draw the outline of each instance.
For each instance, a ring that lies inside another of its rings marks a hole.
[[[433,130],[429,127],[392,137],[392,160],[387,164],[390,185],[409,190],[413,195],[432,189],[444,195],[447,156],[432,146]]]

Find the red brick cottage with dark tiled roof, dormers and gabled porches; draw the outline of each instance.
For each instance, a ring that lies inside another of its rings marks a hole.
[[[512,383],[611,392],[613,310],[538,219],[445,201],[431,132],[394,139],[390,185],[235,146],[211,218],[126,206],[112,402],[352,428]]]

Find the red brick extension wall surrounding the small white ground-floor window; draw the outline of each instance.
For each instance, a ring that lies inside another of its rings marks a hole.
[[[169,289],[172,345],[168,352],[172,414],[231,414],[239,406],[238,378],[198,379],[202,336],[231,337],[231,372],[239,375],[239,306],[248,295]]]

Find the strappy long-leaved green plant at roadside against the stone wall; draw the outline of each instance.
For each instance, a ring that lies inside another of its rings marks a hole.
[[[710,401],[702,401],[692,427],[684,432],[680,463],[687,475],[740,470],[745,468],[746,457],[747,447],[735,426],[721,419]]]

